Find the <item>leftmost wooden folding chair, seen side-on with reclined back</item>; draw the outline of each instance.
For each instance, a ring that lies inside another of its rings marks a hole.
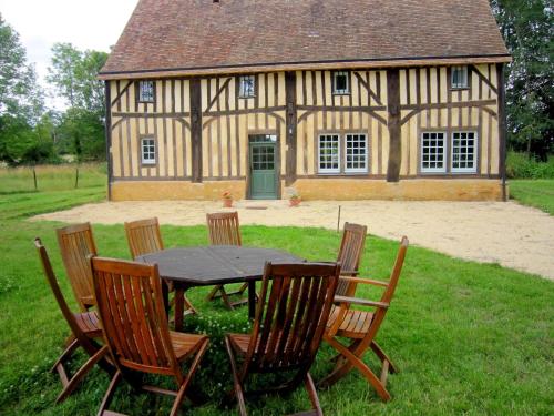
[[[60,375],[60,379],[63,385],[62,392],[59,394],[55,403],[63,402],[79,385],[83,377],[89,373],[89,371],[99,364],[102,368],[113,374],[113,367],[104,359],[107,354],[107,347],[101,346],[96,341],[102,339],[102,329],[99,326],[99,321],[95,312],[83,312],[83,313],[72,313],[63,297],[63,293],[60,290],[58,280],[55,278],[54,272],[52,270],[52,264],[47,253],[47,248],[42,245],[40,239],[34,240],[34,246],[39,253],[39,258],[42,264],[42,270],[47,282],[54,294],[55,301],[60,306],[63,317],[65,318],[72,337],[65,351],[55,361],[52,372],[57,371]],[[65,364],[71,359],[73,353],[78,348],[83,348],[83,351],[89,355],[89,359],[84,365],[70,377]]]

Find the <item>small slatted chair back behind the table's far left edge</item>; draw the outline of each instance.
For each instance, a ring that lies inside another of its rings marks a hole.
[[[133,258],[164,250],[160,223],[156,217],[126,222],[125,234]]]

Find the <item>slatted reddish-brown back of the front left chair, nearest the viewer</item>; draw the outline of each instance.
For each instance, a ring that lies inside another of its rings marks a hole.
[[[116,366],[183,376],[172,347],[157,265],[93,257],[98,312]]]

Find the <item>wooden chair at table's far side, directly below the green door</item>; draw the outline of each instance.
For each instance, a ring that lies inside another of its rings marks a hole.
[[[238,223],[237,212],[224,212],[215,214],[206,214],[209,244],[212,245],[243,245],[240,239],[240,226]],[[234,310],[235,306],[244,305],[248,303],[247,298],[240,298],[238,301],[232,302],[229,296],[244,295],[245,291],[248,288],[248,283],[243,284],[235,292],[225,291],[224,285],[216,285],[212,292],[207,295],[208,301],[214,301],[218,297],[222,298],[223,303],[227,308]]]

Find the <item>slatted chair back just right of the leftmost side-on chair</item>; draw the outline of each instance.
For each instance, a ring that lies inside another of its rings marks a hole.
[[[71,288],[81,311],[94,305],[89,255],[98,255],[90,223],[69,225],[57,230],[58,244]]]

